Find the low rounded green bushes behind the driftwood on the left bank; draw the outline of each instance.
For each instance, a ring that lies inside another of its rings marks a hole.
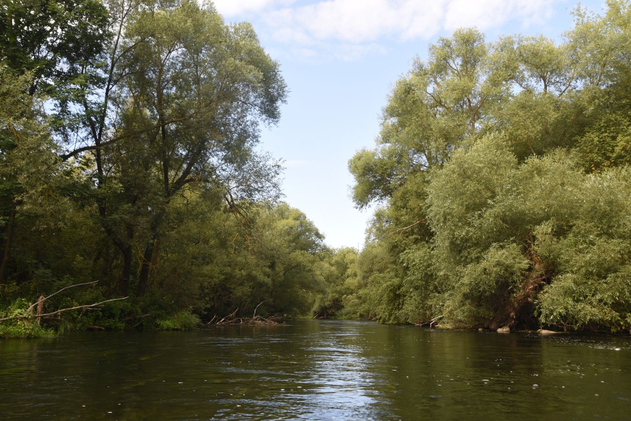
[[[322,288],[317,228],[285,203],[250,204],[248,218],[237,219],[213,194],[172,203],[168,223],[175,229],[162,236],[153,298],[208,318],[237,308],[252,316],[261,302],[260,315],[306,314]]]

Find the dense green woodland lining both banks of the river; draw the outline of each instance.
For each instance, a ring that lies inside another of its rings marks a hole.
[[[574,20],[414,61],[348,163],[377,205],[359,251],[282,201],[260,133],[288,86],[249,23],[4,2],[0,337],[228,314],[631,332],[631,5]]]

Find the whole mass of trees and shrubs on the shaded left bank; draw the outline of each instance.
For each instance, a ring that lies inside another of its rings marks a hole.
[[[187,0],[0,17],[0,302],[129,295],[42,320],[61,331],[309,312],[328,251],[256,151],[287,90],[249,23]]]

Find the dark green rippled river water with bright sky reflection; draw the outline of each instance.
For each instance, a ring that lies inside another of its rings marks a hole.
[[[0,419],[629,419],[627,337],[362,321],[0,340]]]

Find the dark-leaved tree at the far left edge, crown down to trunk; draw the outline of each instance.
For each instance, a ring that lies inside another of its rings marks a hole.
[[[107,38],[106,25],[107,11],[98,1],[9,1],[0,8],[0,68],[6,98],[2,118],[8,134],[1,146],[6,165],[1,218],[6,223],[0,282],[7,276],[18,208],[24,210],[28,203],[21,196],[35,198],[42,193],[43,181],[59,165],[49,153],[54,150],[52,132],[63,134],[63,127],[74,124],[73,94],[77,86],[88,83],[81,73],[98,60]],[[53,119],[45,121],[43,100],[54,109]],[[31,153],[30,165],[25,151]],[[38,171],[42,182],[35,187],[32,179],[27,180]]]

